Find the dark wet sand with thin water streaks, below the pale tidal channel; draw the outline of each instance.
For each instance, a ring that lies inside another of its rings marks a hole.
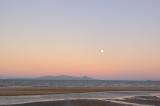
[[[143,98],[143,99],[142,99]],[[56,101],[26,102],[0,106],[159,106],[160,97],[135,96],[123,99],[70,99]]]

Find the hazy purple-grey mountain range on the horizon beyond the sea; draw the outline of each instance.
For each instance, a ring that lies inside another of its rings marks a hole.
[[[41,79],[41,80],[95,80],[94,78],[90,78],[87,76],[75,77],[75,76],[68,76],[68,75],[41,76],[36,79]]]

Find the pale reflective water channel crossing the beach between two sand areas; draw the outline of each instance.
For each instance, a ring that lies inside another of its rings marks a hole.
[[[137,95],[160,95],[160,92],[152,91],[110,91],[110,92],[92,92],[92,93],[70,93],[70,94],[52,94],[52,95],[34,95],[34,96],[0,96],[0,105],[22,104],[40,101],[56,101],[71,99],[101,99],[123,98],[126,96]]]

